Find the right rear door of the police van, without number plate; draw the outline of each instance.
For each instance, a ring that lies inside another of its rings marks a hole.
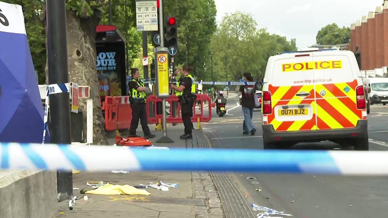
[[[316,90],[317,128],[352,128],[362,119],[357,109],[357,78],[346,55],[313,52]],[[360,84],[361,85],[361,84]]]

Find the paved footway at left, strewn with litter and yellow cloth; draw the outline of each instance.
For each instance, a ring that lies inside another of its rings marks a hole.
[[[155,125],[149,125],[151,132],[156,135],[152,140],[158,147],[186,147],[187,149],[206,148],[210,142],[206,141],[201,130],[194,130],[192,140],[181,140],[183,125],[168,125],[168,137],[174,140],[171,144],[156,143],[162,136],[161,131],[152,131]],[[139,125],[138,135],[142,135]],[[109,138],[114,144],[114,139]],[[206,145],[206,146],[205,146]],[[103,163],[101,163],[103,164]],[[123,169],[116,169],[123,170]],[[73,210],[69,210],[68,202],[59,202],[59,211],[53,218],[222,218],[220,200],[208,172],[130,172],[95,173],[81,172],[73,174],[73,187],[90,189],[86,183],[103,181],[118,185],[139,185],[156,183],[159,180],[165,183],[178,183],[178,188],[161,191],[153,188],[146,189],[150,196],[130,195],[91,195],[88,201],[77,200]],[[74,190],[74,196],[82,197],[80,190]]]

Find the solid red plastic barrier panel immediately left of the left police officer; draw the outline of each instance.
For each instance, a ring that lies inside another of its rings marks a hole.
[[[123,130],[131,127],[132,108],[128,96],[114,97],[118,102],[117,129]]]

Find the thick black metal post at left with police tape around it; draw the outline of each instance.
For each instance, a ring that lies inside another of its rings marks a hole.
[[[65,1],[47,0],[46,9],[49,84],[68,83]],[[50,95],[50,134],[52,144],[71,143],[68,92]],[[57,171],[57,185],[58,193],[73,196],[72,172]]]

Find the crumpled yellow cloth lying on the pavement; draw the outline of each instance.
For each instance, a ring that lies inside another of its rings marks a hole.
[[[130,185],[103,185],[94,190],[89,190],[85,194],[99,194],[99,195],[150,195],[146,190],[137,189]]]

